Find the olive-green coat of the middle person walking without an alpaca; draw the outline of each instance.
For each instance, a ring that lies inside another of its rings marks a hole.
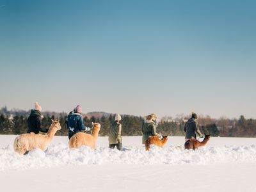
[[[108,134],[108,142],[110,144],[122,143],[122,124],[118,122],[113,122],[110,127],[109,134]]]

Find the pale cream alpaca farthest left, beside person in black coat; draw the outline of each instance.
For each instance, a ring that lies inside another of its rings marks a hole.
[[[42,150],[46,150],[51,143],[54,134],[60,129],[61,125],[59,120],[52,120],[52,124],[47,134],[35,134],[33,132],[20,134],[20,136],[15,138],[13,148],[15,152],[18,152],[21,155],[23,155],[25,152],[31,151],[33,148],[41,148]]]

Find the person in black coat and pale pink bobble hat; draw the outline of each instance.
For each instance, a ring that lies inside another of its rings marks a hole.
[[[34,132],[35,134],[38,134],[39,131],[41,132],[47,132],[48,129],[42,129],[41,122],[42,122],[42,108],[38,104],[38,102],[35,102],[35,109],[31,109],[31,113],[28,117],[27,123],[28,123],[28,131],[27,133]]]

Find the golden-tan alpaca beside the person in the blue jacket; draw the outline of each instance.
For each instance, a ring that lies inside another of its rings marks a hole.
[[[92,134],[86,134],[84,132],[77,132],[74,134],[69,142],[69,148],[79,148],[82,145],[85,145],[90,148],[96,148],[96,141],[100,131],[100,124],[92,123]]]

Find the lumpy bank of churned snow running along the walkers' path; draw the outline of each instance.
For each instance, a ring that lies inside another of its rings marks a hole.
[[[11,145],[0,148],[0,171],[79,164],[214,164],[255,160],[255,145],[201,147],[195,151],[172,145],[164,148],[153,145],[149,151],[144,147],[125,146],[121,152],[108,147],[69,149],[59,143],[45,152],[35,148],[25,156],[15,153]]]

